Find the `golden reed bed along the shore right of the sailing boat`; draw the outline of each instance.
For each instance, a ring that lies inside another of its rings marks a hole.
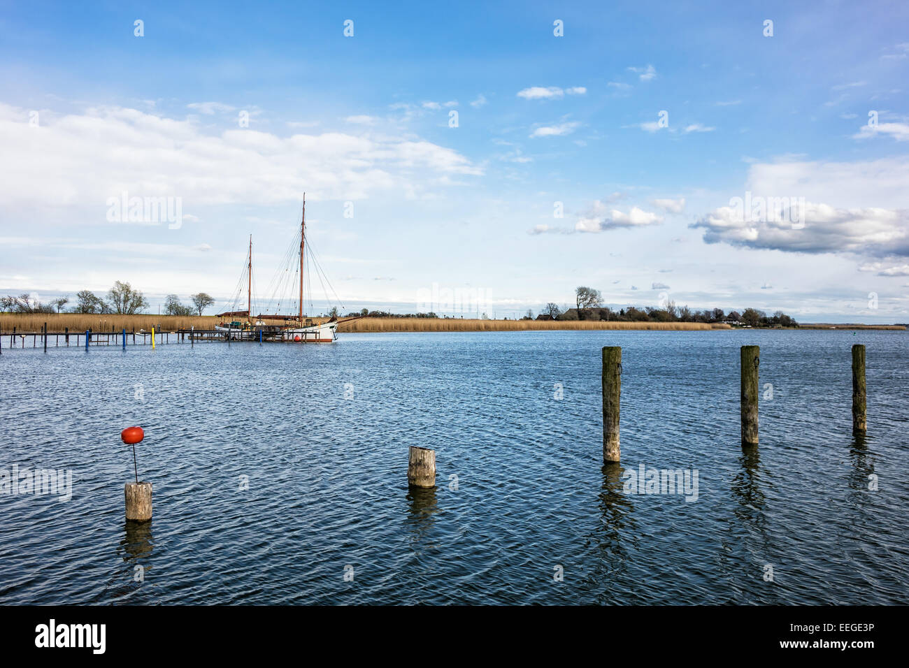
[[[467,320],[460,318],[363,318],[342,323],[338,332],[527,332],[548,330],[684,330],[729,329],[728,324],[624,323],[571,320]]]

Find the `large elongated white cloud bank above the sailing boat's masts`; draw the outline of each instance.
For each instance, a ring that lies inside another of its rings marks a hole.
[[[0,208],[98,206],[128,191],[189,204],[278,204],[414,193],[483,174],[464,155],[413,136],[277,136],[250,129],[204,134],[192,120],[99,107],[29,127],[0,105]],[[44,120],[44,119],[43,119]],[[91,165],[90,169],[86,165]]]

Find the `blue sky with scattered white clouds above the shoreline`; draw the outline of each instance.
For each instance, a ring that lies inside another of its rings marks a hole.
[[[0,2],[0,84],[0,294],[274,304],[305,193],[314,314],[909,322],[904,2]]]

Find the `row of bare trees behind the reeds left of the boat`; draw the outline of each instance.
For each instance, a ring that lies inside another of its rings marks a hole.
[[[202,315],[208,306],[215,304],[210,294],[198,293],[190,296],[193,306],[187,306],[176,294],[168,294],[165,299],[165,314],[168,315]],[[148,300],[141,291],[132,285],[115,281],[107,291],[105,298],[99,297],[91,290],[80,290],[75,294],[75,304],[66,312],[64,308],[70,303],[69,295],[58,297],[50,302],[40,302],[31,294],[7,295],[0,297],[0,311],[16,314],[120,314],[135,315],[145,313]]]

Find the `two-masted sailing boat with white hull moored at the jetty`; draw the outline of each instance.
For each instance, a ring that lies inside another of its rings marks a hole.
[[[338,324],[348,320],[356,320],[356,317],[338,319],[336,314],[320,322],[314,318],[306,318],[303,314],[304,305],[304,259],[306,253],[306,196],[303,198],[303,215],[300,221],[300,249],[299,249],[299,299],[297,300],[297,313],[292,315],[282,314],[258,314],[253,319],[253,237],[249,237],[249,255],[246,258],[244,270],[248,274],[246,282],[246,309],[245,311],[226,311],[217,314],[222,318],[221,324],[215,329],[219,332],[227,333],[232,339],[240,341],[283,341],[290,343],[315,343],[331,344],[337,339]],[[289,255],[290,253],[288,253]],[[278,274],[284,274],[287,267],[279,269]],[[275,280],[276,285],[285,284],[283,278]],[[295,285],[297,287],[297,285]],[[242,289],[242,288],[241,288]],[[280,302],[278,302],[280,307]],[[243,318],[240,320],[239,318]],[[283,321],[283,324],[267,324],[265,321]]]

